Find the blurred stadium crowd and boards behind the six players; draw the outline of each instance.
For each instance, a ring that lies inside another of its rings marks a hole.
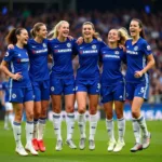
[[[85,21],[95,25],[104,41],[110,28],[125,27],[132,18],[144,23],[146,39],[150,43],[156,66],[150,73],[150,97],[143,106],[148,120],[162,120],[162,10],[160,0],[0,0],[0,62],[6,51],[4,38],[13,27],[25,27],[28,31],[38,22],[43,22],[50,31],[65,19],[70,24],[70,36],[81,36]],[[73,60],[77,69],[78,59]],[[51,65],[49,64],[49,67]],[[123,69],[123,73],[125,70]],[[0,81],[3,81],[0,72]],[[51,108],[51,106],[50,106]],[[0,108],[3,111],[3,108]],[[102,109],[102,104],[98,104]],[[3,113],[1,113],[3,119]],[[126,119],[131,119],[130,106],[125,104]],[[102,117],[104,117],[102,111]]]

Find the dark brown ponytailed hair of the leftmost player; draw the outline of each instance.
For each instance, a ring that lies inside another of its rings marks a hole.
[[[16,44],[17,43],[17,35],[21,35],[22,30],[25,28],[13,28],[8,36],[5,37],[5,41],[8,44]]]

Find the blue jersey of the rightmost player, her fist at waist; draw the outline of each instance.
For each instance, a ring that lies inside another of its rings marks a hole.
[[[148,72],[143,75],[140,78],[135,78],[135,71],[140,71],[145,68],[147,64],[146,57],[150,55],[151,49],[147,41],[139,38],[135,44],[132,44],[132,39],[127,40],[126,46],[126,59],[127,59],[127,70],[126,70],[126,81],[139,83],[141,81],[149,82]]]

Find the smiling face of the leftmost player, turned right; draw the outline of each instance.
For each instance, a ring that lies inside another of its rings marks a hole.
[[[27,44],[29,36],[28,36],[28,32],[26,29],[22,29],[19,35],[16,35],[16,37],[17,37],[17,41],[19,41],[19,43]]]

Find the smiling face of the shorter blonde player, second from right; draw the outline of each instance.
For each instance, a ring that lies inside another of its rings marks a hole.
[[[108,42],[109,43],[118,43],[120,40],[119,33],[117,29],[111,29],[108,33]]]

